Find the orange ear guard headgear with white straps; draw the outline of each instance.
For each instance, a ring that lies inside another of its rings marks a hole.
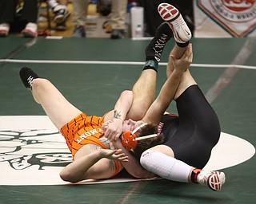
[[[138,128],[134,129],[134,131],[125,131],[124,133],[122,133],[122,146],[126,147],[126,150],[134,151],[135,148],[137,147],[138,140],[158,136],[157,134],[153,134],[153,135],[146,135],[146,136],[137,138],[137,136],[135,135],[135,132],[145,125],[146,124],[141,124]]]

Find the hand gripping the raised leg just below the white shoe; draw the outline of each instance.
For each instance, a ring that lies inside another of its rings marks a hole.
[[[186,69],[189,69],[190,64],[193,60],[192,44],[190,43],[190,45],[187,46],[186,51],[181,58],[177,59],[173,55],[171,55],[170,57],[172,57],[172,63],[176,71],[182,73],[186,72]]]

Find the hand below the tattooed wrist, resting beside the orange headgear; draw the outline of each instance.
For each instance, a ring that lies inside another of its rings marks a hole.
[[[122,134],[122,120],[108,120],[102,124],[102,130],[105,132],[104,136],[110,141],[119,139]]]

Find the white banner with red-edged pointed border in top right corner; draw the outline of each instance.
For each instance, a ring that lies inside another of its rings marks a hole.
[[[198,0],[198,7],[235,37],[255,29],[255,0]]]

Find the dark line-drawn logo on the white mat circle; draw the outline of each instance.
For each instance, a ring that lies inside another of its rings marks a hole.
[[[70,152],[66,152],[65,143],[50,139],[58,132],[31,129],[0,131],[0,134],[0,163],[9,163],[14,170],[65,167],[72,160]]]

